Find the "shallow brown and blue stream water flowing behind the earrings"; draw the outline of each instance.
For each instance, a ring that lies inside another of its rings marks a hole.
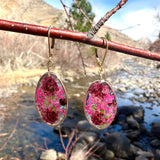
[[[126,92],[122,93],[118,88],[123,87],[123,84],[114,83],[117,79],[123,79],[127,82],[133,78],[144,79],[144,76],[151,79],[159,75],[158,70],[154,68],[146,68],[144,65],[136,65],[133,60],[125,62],[125,66],[132,65],[128,71],[117,70],[108,75],[113,82],[113,89],[117,96],[118,107],[120,106],[142,106],[145,110],[144,123],[147,129],[150,129],[150,124],[153,121],[158,121],[160,116],[160,104],[157,101],[140,102],[136,98],[142,97],[146,92],[144,89],[137,87],[136,84],[129,85]],[[146,74],[143,71],[148,69]],[[77,120],[84,119],[83,114],[83,98],[85,90],[90,82],[96,80],[98,76],[88,76],[87,78],[75,78],[74,82],[67,82],[65,86],[69,94],[69,114],[76,116]],[[135,94],[136,90],[136,94]],[[53,132],[53,128],[45,125],[37,114],[34,106],[35,87],[23,86],[18,89],[18,92],[11,97],[0,100],[0,147],[3,146],[8,136],[15,127],[18,119],[18,125],[13,137],[8,144],[0,151],[0,158],[14,159],[14,157],[24,160],[39,159],[43,149],[54,148],[56,151],[64,152],[60,138]],[[78,113],[78,114],[75,114]],[[120,128],[117,125],[115,131]],[[2,135],[3,134],[3,135]],[[65,144],[67,139],[64,139]],[[45,145],[46,143],[46,145]]]

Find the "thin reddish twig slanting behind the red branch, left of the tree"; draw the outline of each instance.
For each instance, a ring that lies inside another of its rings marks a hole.
[[[68,17],[68,20],[69,20],[69,23],[70,23],[70,25],[71,25],[72,31],[75,31],[74,26],[73,26],[73,24],[72,24],[72,21],[71,21],[71,19],[70,19],[70,16],[69,16],[69,14],[68,14],[68,12],[67,12],[67,10],[66,10],[66,5],[64,4],[64,2],[63,2],[62,0],[60,0],[60,1],[61,1],[61,3],[62,3],[62,6],[63,6],[63,8],[64,8],[64,11],[65,11],[65,13],[66,13],[66,15],[67,15],[67,17]],[[80,57],[81,57],[82,65],[83,65],[83,69],[84,69],[84,74],[85,74],[85,76],[86,76],[86,69],[85,69],[85,64],[84,64],[82,52],[81,52],[81,49],[80,49],[80,45],[79,45],[78,42],[76,42],[76,45],[77,45],[78,51],[79,51],[79,53],[80,53]]]

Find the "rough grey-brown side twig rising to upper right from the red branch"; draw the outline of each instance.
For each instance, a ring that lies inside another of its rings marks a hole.
[[[94,35],[98,32],[98,30],[101,28],[101,26],[104,25],[104,23],[114,14],[116,11],[118,11],[122,6],[127,2],[128,0],[121,0],[115,8],[113,8],[111,11],[107,12],[104,17],[102,17],[98,23],[92,27],[92,29],[87,32],[87,38],[91,39],[94,37]]]

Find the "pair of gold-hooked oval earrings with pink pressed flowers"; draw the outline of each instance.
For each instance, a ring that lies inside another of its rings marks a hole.
[[[60,125],[67,115],[68,100],[65,87],[61,80],[52,72],[52,56],[50,45],[50,29],[48,29],[48,47],[49,61],[48,72],[39,80],[36,93],[35,104],[37,111],[42,120],[49,126],[55,127]],[[53,43],[54,44],[54,41]],[[99,66],[99,80],[93,82],[85,95],[84,112],[89,123],[97,128],[107,128],[116,115],[117,100],[116,96],[107,81],[102,80],[103,63],[108,51],[105,51],[102,62],[100,61],[95,49],[96,62]]]

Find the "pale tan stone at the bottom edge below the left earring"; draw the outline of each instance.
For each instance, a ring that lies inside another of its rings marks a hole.
[[[57,160],[57,152],[54,149],[43,151],[40,160]]]

